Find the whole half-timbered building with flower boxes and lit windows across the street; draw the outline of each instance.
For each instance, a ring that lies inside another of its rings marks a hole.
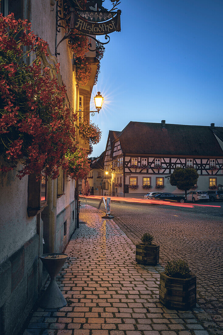
[[[115,196],[183,194],[170,185],[177,166],[197,170],[194,189],[223,189],[223,127],[131,121],[121,132],[109,131],[103,160],[111,184],[104,192]]]

